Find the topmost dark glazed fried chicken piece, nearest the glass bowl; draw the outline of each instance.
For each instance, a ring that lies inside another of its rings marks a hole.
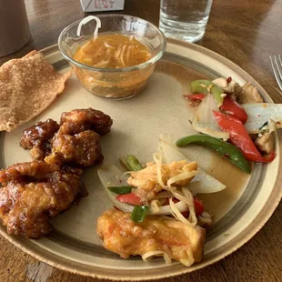
[[[72,130],[70,130],[69,126],[64,125],[65,123],[75,124],[76,130],[74,130],[74,127],[71,127]],[[63,113],[60,124],[63,126],[62,132],[65,134],[76,134],[90,129],[102,136],[110,132],[113,120],[103,112],[89,107],[87,109],[76,109]]]

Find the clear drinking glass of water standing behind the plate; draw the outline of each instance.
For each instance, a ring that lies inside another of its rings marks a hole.
[[[166,35],[197,42],[205,34],[212,0],[161,0],[159,28]]]

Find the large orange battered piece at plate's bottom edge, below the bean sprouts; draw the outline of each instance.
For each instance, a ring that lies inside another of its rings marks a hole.
[[[205,229],[175,219],[147,216],[136,224],[130,213],[109,209],[97,219],[96,231],[104,247],[120,257],[163,251],[187,267],[203,258]]]

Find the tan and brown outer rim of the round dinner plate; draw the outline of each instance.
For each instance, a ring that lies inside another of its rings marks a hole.
[[[227,59],[223,55],[219,55],[216,52],[207,49],[204,46],[201,45],[195,45],[195,44],[190,44],[184,41],[176,40],[176,39],[171,39],[167,38],[167,45],[172,44],[172,45],[180,45],[184,46],[189,49],[194,49],[202,54],[211,56],[215,58],[217,61],[220,61],[224,65],[227,65],[230,69],[234,70],[238,74],[242,74],[243,76],[248,76],[250,78],[250,82],[257,86],[259,88],[259,91],[264,95],[267,96],[271,102],[273,103],[272,98],[267,94],[267,91],[260,86],[257,83],[257,80],[253,78],[253,76],[250,76],[244,69],[242,69],[240,66],[236,65],[233,63],[231,60]],[[53,54],[54,52],[58,51],[57,45],[50,45],[45,47],[44,49],[40,50],[44,55],[48,54]],[[279,150],[281,151],[282,148],[279,146]],[[279,163],[278,163],[278,168],[277,170],[279,171],[282,166],[282,160],[281,156],[279,158]],[[279,189],[278,183],[282,181],[282,175],[278,174],[277,178],[275,180],[274,186],[272,188],[271,194],[268,196],[267,202],[264,206],[261,207],[259,213],[257,214],[257,217],[254,218],[254,220],[244,229],[242,230],[237,237],[234,237],[232,240],[230,240],[227,244],[225,244],[222,247],[217,248],[216,250],[213,250],[209,254],[206,255],[205,260],[201,264],[196,264],[193,267],[183,267],[176,265],[176,267],[169,267],[167,268],[170,269],[170,271],[160,273],[155,276],[139,276],[139,277],[134,277],[134,276],[125,276],[125,277],[115,277],[114,274],[113,276],[104,274],[103,272],[107,271],[106,268],[101,268],[101,267],[93,267],[93,272],[85,271],[85,270],[79,270],[71,267],[74,262],[72,262],[69,259],[59,257],[58,255],[52,254],[48,252],[45,249],[42,249],[41,247],[36,246],[35,244],[29,242],[29,244],[33,245],[33,249],[29,249],[28,247],[25,247],[21,244],[21,242],[17,241],[17,237],[13,235],[8,235],[6,231],[3,231],[0,229],[0,235],[5,237],[9,242],[11,242],[15,247],[20,248],[23,250],[25,253],[28,255],[35,257],[36,259],[45,262],[46,264],[57,267],[59,269],[68,271],[70,273],[76,274],[76,275],[81,275],[84,277],[94,277],[94,278],[101,278],[101,279],[110,279],[110,280],[119,280],[119,281],[125,281],[125,280],[131,280],[131,281],[140,281],[140,280],[149,280],[149,279],[161,279],[161,278],[166,278],[166,277],[176,277],[178,275],[184,275],[187,273],[191,273],[195,270],[202,269],[204,267],[210,266],[219,260],[223,259],[224,257],[229,256],[230,254],[234,253],[239,247],[242,247],[245,245],[252,237],[254,237],[257,232],[266,225],[268,219],[273,215],[275,212],[281,198],[282,198],[282,189]],[[25,240],[25,239],[24,239]],[[28,245],[29,245],[28,244]],[[224,248],[224,250],[222,250]],[[226,249],[227,248],[227,249]],[[36,250],[37,252],[35,253],[33,250]],[[55,258],[59,258],[62,261],[55,261]],[[68,264],[68,265],[67,265]],[[77,265],[82,265],[79,262],[75,262],[76,266]],[[100,269],[100,273],[96,273],[95,269]],[[157,269],[152,269],[157,270]],[[101,274],[102,272],[102,274]],[[114,270],[115,272],[115,270]]]

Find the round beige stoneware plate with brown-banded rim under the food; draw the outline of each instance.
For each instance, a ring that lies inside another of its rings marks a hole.
[[[60,72],[69,65],[57,46],[42,51],[46,59]],[[92,96],[80,86],[76,76],[67,82],[65,92],[52,106],[34,120],[12,133],[1,135],[1,166],[30,160],[29,152],[18,146],[27,126],[49,117],[59,121],[62,112],[75,108],[93,107],[114,119],[110,134],[101,138],[104,165],[114,164],[119,156],[133,154],[142,162],[152,159],[160,133],[170,134],[175,140],[193,133],[189,118],[193,108],[183,94],[189,93],[190,81],[200,78],[232,76],[240,85],[250,81],[257,86],[265,101],[271,102],[264,89],[245,71],[221,55],[199,45],[169,40],[167,52],[158,62],[146,90],[131,99],[110,101]],[[276,140],[276,159],[268,165],[253,166],[251,176],[230,165],[220,156],[197,146],[183,149],[193,156],[199,166],[227,185],[227,189],[213,195],[200,196],[206,209],[215,215],[215,225],[206,237],[205,258],[193,267],[179,263],[167,265],[162,258],[148,263],[140,257],[122,259],[102,247],[96,236],[96,218],[111,203],[96,176],[96,167],[86,169],[84,180],[89,196],[79,206],[72,206],[52,220],[55,230],[38,240],[9,236],[5,227],[0,233],[28,254],[76,274],[118,280],[141,280],[170,277],[206,267],[241,247],[267,222],[281,198],[280,137]],[[118,271],[117,271],[118,270]]]

